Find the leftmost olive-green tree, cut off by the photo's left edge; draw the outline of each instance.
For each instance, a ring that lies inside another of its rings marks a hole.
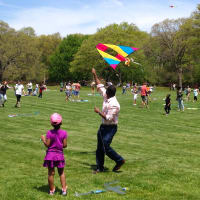
[[[39,69],[40,52],[35,37],[23,31],[16,32],[0,22],[0,79],[33,80]]]

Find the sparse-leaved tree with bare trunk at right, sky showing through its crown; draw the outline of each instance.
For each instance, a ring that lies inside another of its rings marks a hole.
[[[189,59],[188,35],[182,31],[186,19],[164,20],[152,27],[149,44],[152,48],[146,51],[148,57],[153,57],[154,63],[163,71],[176,72],[179,86],[182,87],[183,70],[188,67]]]

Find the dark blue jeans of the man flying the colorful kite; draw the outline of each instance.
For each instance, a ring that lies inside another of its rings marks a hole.
[[[101,125],[97,133],[96,163],[99,170],[104,169],[105,154],[116,163],[124,160],[110,147],[112,139],[117,132],[117,125]]]

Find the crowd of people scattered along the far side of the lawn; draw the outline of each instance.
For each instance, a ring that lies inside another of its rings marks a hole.
[[[106,83],[107,87],[112,85],[112,82]],[[15,107],[20,107],[21,96],[38,96],[38,98],[43,97],[43,91],[47,89],[44,83],[35,84],[29,81],[26,85],[26,89],[21,81],[18,81],[15,86],[9,86],[7,81],[3,81],[0,84],[0,107],[4,107],[7,101],[7,90],[13,88],[16,96]],[[92,95],[95,95],[95,82],[92,81],[89,86],[91,87]],[[66,82],[60,83],[60,92],[65,92],[65,101],[76,101],[80,98],[80,82]],[[128,92],[133,96],[133,105],[136,106],[138,102],[138,97],[141,97],[141,107],[149,108],[149,102],[151,102],[151,93],[154,87],[150,84],[144,82],[142,85],[137,85],[137,83],[131,84],[126,83],[122,85],[122,95],[126,95]],[[175,83],[170,84],[170,90],[176,91],[176,101],[178,105],[178,111],[184,111],[184,100],[197,102],[199,95],[199,88],[197,86],[191,88],[189,85],[185,88],[177,87]],[[185,98],[184,98],[185,95]],[[193,96],[193,99],[192,97]],[[168,115],[171,110],[171,95],[167,94],[165,100],[165,114]]]

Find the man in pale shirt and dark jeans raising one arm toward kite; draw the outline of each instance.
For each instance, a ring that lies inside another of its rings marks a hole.
[[[105,89],[97,77],[96,70],[92,68],[92,74],[97,85],[97,90],[103,96],[103,108],[102,112],[99,108],[95,107],[94,111],[102,117],[102,124],[99,127],[97,133],[97,150],[96,150],[96,164],[97,169],[94,173],[104,171],[104,158],[105,154],[116,162],[113,171],[117,171],[125,163],[122,158],[114,149],[111,148],[111,143],[114,135],[117,132],[118,115],[120,111],[120,105],[115,97],[116,88],[110,85]]]

